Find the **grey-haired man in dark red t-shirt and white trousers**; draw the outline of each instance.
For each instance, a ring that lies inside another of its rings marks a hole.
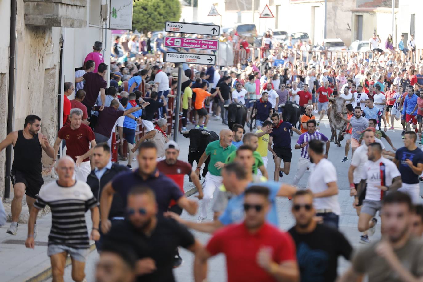
[[[82,123],[82,110],[75,108],[71,110],[71,123],[63,126],[58,133],[54,143],[55,155],[59,151],[60,142],[66,141],[66,155],[75,162],[75,178],[79,181],[87,181],[91,172],[90,156],[96,146],[93,130]],[[91,150],[90,150],[91,144]]]

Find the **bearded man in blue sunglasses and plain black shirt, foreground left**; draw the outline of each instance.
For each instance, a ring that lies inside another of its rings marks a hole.
[[[119,244],[134,250],[137,281],[174,282],[175,249],[182,246],[195,253],[201,243],[186,227],[160,214],[154,194],[143,186],[129,192],[126,220],[112,226],[104,246]]]

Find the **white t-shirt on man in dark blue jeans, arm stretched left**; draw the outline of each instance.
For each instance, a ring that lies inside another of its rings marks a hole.
[[[320,193],[327,189],[327,183],[337,181],[338,177],[336,175],[335,166],[328,159],[323,158],[318,164],[316,164],[313,171],[310,173],[308,182],[313,183],[313,185],[308,186],[313,193]],[[313,204],[316,210],[331,209],[334,214],[341,214],[341,206],[338,202],[338,195],[314,198]]]

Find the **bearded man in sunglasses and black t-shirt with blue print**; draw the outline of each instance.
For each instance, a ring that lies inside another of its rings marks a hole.
[[[301,281],[335,281],[338,257],[349,260],[352,246],[341,232],[316,222],[310,191],[299,190],[294,194],[291,212],[296,224],[288,232],[297,247]]]

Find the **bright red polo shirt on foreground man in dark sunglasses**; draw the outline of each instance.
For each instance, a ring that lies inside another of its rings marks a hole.
[[[255,234],[248,232],[244,222],[223,227],[214,233],[206,249],[211,255],[225,254],[228,282],[274,282],[275,278],[257,264],[257,253],[262,247],[273,249],[272,260],[277,264],[297,260],[291,235],[268,223]]]

